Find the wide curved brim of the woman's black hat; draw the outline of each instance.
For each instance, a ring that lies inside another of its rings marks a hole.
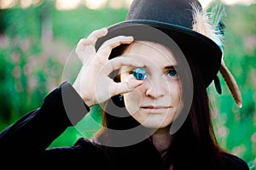
[[[158,35],[146,31],[144,26],[152,26],[171,37],[185,57],[198,65],[206,87],[211,84],[221,65],[222,51],[212,39],[182,26],[154,20],[125,20],[108,27],[108,35],[98,39],[96,50],[102,46],[103,42],[117,36],[132,36],[135,41],[154,41],[165,45],[164,39],[160,40],[156,37]]]

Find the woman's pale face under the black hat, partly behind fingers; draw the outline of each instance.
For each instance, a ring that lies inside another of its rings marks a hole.
[[[144,127],[169,126],[181,105],[180,81],[175,71],[177,61],[172,52],[155,42],[133,42],[124,55],[143,62],[144,70],[122,67],[121,82],[143,78],[136,77],[133,71],[146,72],[143,84],[124,94],[126,110]]]

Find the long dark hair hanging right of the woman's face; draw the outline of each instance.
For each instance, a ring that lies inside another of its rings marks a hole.
[[[186,56],[188,56],[187,54]],[[187,57],[194,83],[192,105],[183,126],[175,133],[172,146],[164,158],[168,169],[224,169],[222,150],[214,134],[207,87],[200,69]]]

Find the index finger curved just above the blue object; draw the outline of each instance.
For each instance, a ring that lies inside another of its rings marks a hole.
[[[144,64],[137,59],[131,59],[127,57],[117,57],[108,60],[108,63],[104,66],[103,72],[109,75],[112,71],[120,69],[122,66],[131,67],[143,67]]]

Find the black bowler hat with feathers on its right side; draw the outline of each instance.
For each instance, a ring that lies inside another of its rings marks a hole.
[[[218,71],[224,77],[230,93],[241,107],[241,93],[223,60],[224,24],[213,26],[210,17],[197,0],[133,0],[126,20],[108,27],[108,35],[96,42],[116,36],[133,36],[135,40],[150,40],[140,36],[140,26],[152,26],[163,31],[177,43],[183,54],[200,68],[206,87],[217,82]],[[131,29],[134,27],[134,29]],[[150,35],[154,37],[155,35]],[[147,37],[147,36],[146,36]],[[218,91],[218,93],[221,93]]]

